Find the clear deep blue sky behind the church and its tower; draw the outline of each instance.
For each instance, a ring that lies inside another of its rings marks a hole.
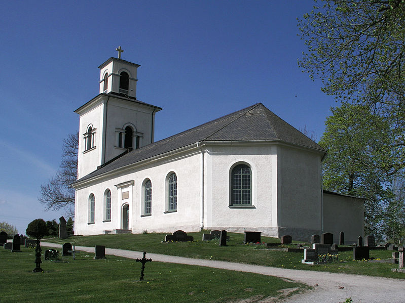
[[[321,137],[333,98],[302,73],[297,20],[312,0],[4,1],[0,13],[0,222],[25,234],[44,211],[73,111],[109,57],[140,64],[137,98],[163,108],[155,140],[261,102]]]

